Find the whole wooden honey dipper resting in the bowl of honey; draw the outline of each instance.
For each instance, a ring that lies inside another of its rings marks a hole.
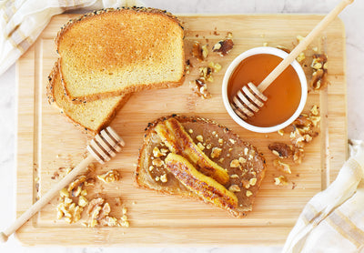
[[[306,47],[312,42],[312,40],[325,29],[334,18],[354,0],[342,0],[328,15],[326,15],[313,30],[300,41],[290,54],[284,58],[279,65],[273,69],[272,72],[258,85],[248,83],[248,86],[243,86],[236,96],[234,96],[232,103],[230,104],[235,113],[242,119],[247,119],[249,116],[254,116],[260,107],[264,106],[264,102],[268,97],[263,92],[273,81],[296,59]]]

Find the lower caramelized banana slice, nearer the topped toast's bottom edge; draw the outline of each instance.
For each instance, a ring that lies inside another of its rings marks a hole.
[[[238,207],[238,197],[211,177],[197,171],[185,157],[169,153],[167,169],[189,190],[217,207],[233,209]]]

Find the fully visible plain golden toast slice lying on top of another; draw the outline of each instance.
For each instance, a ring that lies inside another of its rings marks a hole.
[[[66,95],[92,101],[179,86],[183,38],[177,17],[153,8],[105,9],[71,20],[56,36]]]

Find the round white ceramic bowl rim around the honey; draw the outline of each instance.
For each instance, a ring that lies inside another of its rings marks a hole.
[[[301,99],[299,101],[299,105],[295,113],[288,118],[285,122],[276,125],[276,126],[253,126],[251,124],[248,124],[246,121],[244,121],[241,117],[239,117],[233,110],[233,108],[230,105],[230,102],[228,101],[227,97],[227,84],[228,80],[230,79],[230,76],[234,73],[234,70],[237,68],[237,66],[246,58],[249,56],[255,56],[259,54],[269,54],[281,57],[282,59],[288,56],[288,54],[280,50],[276,47],[270,47],[270,46],[260,46],[260,47],[254,47],[252,49],[249,49],[248,51],[242,53],[238,57],[236,57],[232,63],[227,67],[227,72],[225,73],[224,80],[222,82],[222,98],[224,101],[224,106],[227,108],[227,113],[235,120],[235,122],[238,123],[238,125],[243,126],[244,128],[258,133],[270,133],[275,132],[280,129],[283,129],[284,127],[291,124],[302,112],[303,107],[306,104],[307,100],[307,94],[308,94],[308,84],[305,76],[305,72],[303,71],[302,67],[298,64],[298,62],[295,60],[291,63],[291,66],[295,69],[296,73],[298,74],[299,82],[301,85]]]

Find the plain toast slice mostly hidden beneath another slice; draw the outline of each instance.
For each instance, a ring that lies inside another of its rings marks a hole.
[[[53,67],[48,80],[46,95],[49,104],[58,107],[64,116],[90,136],[95,136],[106,127],[130,96],[113,96],[87,103],[72,103],[65,95],[58,71],[58,62]]]

